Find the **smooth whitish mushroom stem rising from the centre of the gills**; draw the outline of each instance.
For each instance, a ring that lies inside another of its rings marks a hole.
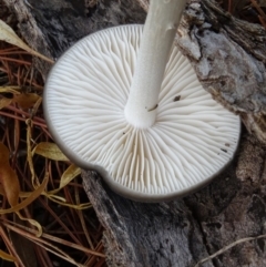
[[[145,129],[155,123],[158,93],[185,0],[151,0],[124,114]]]

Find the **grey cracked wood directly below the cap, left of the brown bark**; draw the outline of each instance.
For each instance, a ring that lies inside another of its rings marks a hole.
[[[109,266],[185,267],[207,256],[198,224],[183,201],[136,203],[114,194],[95,172],[84,172],[83,181],[106,229]]]

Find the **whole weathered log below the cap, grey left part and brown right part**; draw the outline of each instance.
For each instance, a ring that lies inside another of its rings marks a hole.
[[[94,172],[88,195],[105,227],[109,266],[193,267],[231,243],[266,232],[266,151],[247,134],[238,156],[209,186],[184,199],[143,204],[124,199]],[[243,243],[202,266],[264,267],[265,239]]]

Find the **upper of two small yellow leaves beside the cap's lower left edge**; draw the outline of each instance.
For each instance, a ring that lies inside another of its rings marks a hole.
[[[32,156],[34,154],[44,156],[53,161],[65,161],[69,158],[61,152],[61,150],[54,143],[41,142],[32,151]]]

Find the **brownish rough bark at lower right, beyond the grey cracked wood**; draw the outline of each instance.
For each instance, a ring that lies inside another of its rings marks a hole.
[[[211,254],[244,237],[258,236],[266,230],[265,147],[244,135],[238,156],[231,168],[208,187],[185,198],[204,233]],[[237,245],[214,259],[214,265],[266,265],[265,239]]]

